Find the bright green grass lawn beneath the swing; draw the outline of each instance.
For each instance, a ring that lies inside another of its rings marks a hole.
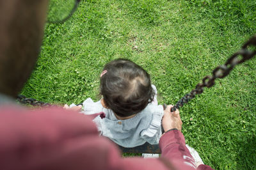
[[[102,67],[128,58],[150,73],[160,104],[175,104],[256,33],[255,22],[254,0],[82,1],[70,20],[45,27],[22,94],[53,104],[97,100]],[[180,109],[186,142],[214,169],[256,169],[255,63]]]

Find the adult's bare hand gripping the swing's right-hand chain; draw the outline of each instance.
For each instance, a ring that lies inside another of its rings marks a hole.
[[[182,128],[182,121],[180,120],[180,112],[178,109],[175,112],[171,112],[172,107],[173,105],[168,105],[164,110],[164,116],[162,119],[162,127],[164,129],[164,132],[167,132],[172,128],[177,128],[178,130],[181,131],[181,128]]]

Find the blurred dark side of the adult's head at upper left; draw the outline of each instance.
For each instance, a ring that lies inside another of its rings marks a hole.
[[[0,93],[16,97],[40,52],[47,0],[0,0]]]

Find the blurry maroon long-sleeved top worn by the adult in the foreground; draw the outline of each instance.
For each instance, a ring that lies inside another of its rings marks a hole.
[[[61,108],[0,107],[0,169],[195,169],[178,130],[164,134],[159,146],[159,159],[123,158],[114,143],[99,137],[90,116]]]

